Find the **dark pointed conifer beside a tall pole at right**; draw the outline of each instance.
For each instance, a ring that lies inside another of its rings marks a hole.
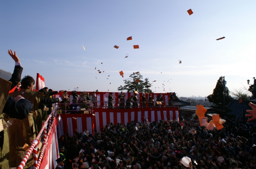
[[[229,95],[229,90],[226,86],[227,81],[225,81],[225,106],[232,101],[232,97]],[[223,77],[220,76],[217,81],[216,87],[213,89],[212,95],[208,95],[207,99],[209,102],[216,104],[216,108],[223,109]]]

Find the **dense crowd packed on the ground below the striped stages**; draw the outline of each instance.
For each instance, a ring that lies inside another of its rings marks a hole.
[[[95,129],[94,135],[88,131],[76,131],[73,136],[66,133],[59,138],[58,167],[255,169],[256,121],[223,119],[226,123],[221,130],[206,130],[194,118],[157,124],[146,120],[107,123],[102,129]]]

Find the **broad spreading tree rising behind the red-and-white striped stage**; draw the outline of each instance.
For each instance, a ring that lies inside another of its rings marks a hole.
[[[117,88],[118,91],[127,90],[127,92],[135,92],[136,90],[139,93],[152,93],[152,90],[150,89],[152,85],[150,84],[148,78],[145,78],[143,81],[143,76],[140,73],[133,73],[129,77],[130,78],[124,80],[124,86]],[[139,79],[139,82],[136,83],[136,79]]]

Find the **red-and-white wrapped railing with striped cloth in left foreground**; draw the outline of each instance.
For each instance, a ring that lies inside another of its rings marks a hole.
[[[27,151],[25,157],[20,162],[20,165],[17,169],[23,169],[24,165],[26,164],[29,156],[33,153],[34,159],[34,169],[45,168],[45,169],[54,169],[57,165],[55,161],[59,158],[59,146],[58,146],[58,139],[57,139],[57,105],[55,106],[54,110],[48,115],[47,120],[45,121],[42,129],[38,133],[35,140],[33,140],[32,145],[30,146],[29,150]],[[48,132],[47,132],[47,125]],[[38,154],[38,145],[40,143],[41,134],[44,131],[44,141],[42,142],[42,150],[40,152],[39,158],[37,157]],[[44,158],[44,160],[43,160]]]

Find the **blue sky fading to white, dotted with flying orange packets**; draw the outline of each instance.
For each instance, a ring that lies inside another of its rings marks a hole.
[[[156,80],[153,91],[204,97],[221,75],[229,90],[256,76],[255,7],[255,0],[0,1],[0,69],[13,72],[12,49],[22,77],[40,73],[53,90],[117,92],[139,71]]]

